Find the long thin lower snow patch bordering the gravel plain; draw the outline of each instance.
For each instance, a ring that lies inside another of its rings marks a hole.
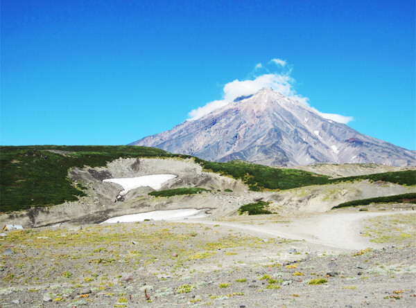
[[[141,212],[139,214],[113,217],[101,222],[101,224],[114,224],[117,222],[136,222],[144,221],[144,219],[180,220],[185,218],[204,218],[209,216],[206,214],[207,210],[207,208],[202,208],[202,210],[197,210],[196,208],[181,208],[178,210],[154,210],[152,212]]]

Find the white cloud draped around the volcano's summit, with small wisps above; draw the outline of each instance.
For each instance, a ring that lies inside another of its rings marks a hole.
[[[272,59],[270,62],[275,64],[285,66],[286,61],[280,59]],[[255,66],[255,69],[263,67],[261,63]],[[256,76],[254,80],[234,80],[225,84],[223,88],[223,99],[214,100],[213,102],[208,102],[205,106],[198,107],[189,112],[189,120],[197,120],[202,118],[212,111],[224,107],[229,104],[239,96],[249,96],[250,94],[256,93],[261,88],[271,88],[273,91],[277,91],[287,98],[297,100],[303,105],[311,108],[316,114],[322,116],[329,120],[334,120],[338,123],[347,124],[350,121],[354,120],[352,116],[341,116],[339,114],[324,114],[317,109],[311,107],[308,103],[308,98],[300,96],[297,94],[295,89],[293,89],[293,84],[295,80],[291,77],[291,70],[288,73],[267,73],[263,75]]]

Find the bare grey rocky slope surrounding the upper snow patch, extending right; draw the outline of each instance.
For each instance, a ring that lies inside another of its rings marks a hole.
[[[354,165],[353,165],[354,166]],[[324,167],[321,167],[320,171]],[[355,167],[331,165],[331,172],[340,174],[347,168],[356,174],[367,170],[391,170],[388,166]],[[201,187],[211,190],[201,194],[173,197],[153,197],[148,187],[137,188],[117,199],[123,190],[116,183],[103,179],[128,178],[148,174],[175,174],[177,177],[164,184],[161,190],[182,187]],[[370,172],[368,172],[370,173]],[[203,172],[202,167],[187,158],[124,158],[107,163],[105,167],[75,167],[69,171],[74,185],[82,183],[87,196],[78,201],[65,202],[48,208],[31,208],[20,212],[0,215],[0,224],[21,224],[25,227],[49,226],[67,222],[68,224],[96,224],[106,219],[150,212],[153,210],[174,210],[177,208],[208,208],[211,217],[229,217],[246,203],[269,201],[270,209],[281,215],[288,213],[325,212],[345,201],[381,197],[392,194],[415,192],[413,186],[394,183],[358,181],[331,185],[310,185],[291,190],[253,192],[241,181],[229,176]],[[232,190],[227,192],[225,190]]]

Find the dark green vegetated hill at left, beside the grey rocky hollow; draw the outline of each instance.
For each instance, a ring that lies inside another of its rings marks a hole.
[[[190,156],[128,145],[0,147],[0,212],[76,201],[85,195],[85,187],[67,178],[72,167],[99,167],[117,158],[135,157]]]

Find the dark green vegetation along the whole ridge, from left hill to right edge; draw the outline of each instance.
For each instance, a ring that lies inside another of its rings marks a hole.
[[[0,147],[0,212],[76,201],[79,196],[85,195],[85,188],[69,181],[67,176],[71,167],[103,167],[117,158],[137,157],[191,158],[152,147],[128,145]],[[329,176],[302,170],[280,169],[241,161],[216,163],[194,159],[205,171],[241,179],[250,190],[257,191],[287,190],[306,185],[364,179],[401,185],[416,184],[416,171],[413,170],[329,179]]]

